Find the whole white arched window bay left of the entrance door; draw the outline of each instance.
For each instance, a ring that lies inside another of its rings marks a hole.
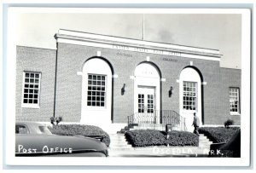
[[[111,121],[112,71],[101,58],[86,61],[83,67],[81,122]]]

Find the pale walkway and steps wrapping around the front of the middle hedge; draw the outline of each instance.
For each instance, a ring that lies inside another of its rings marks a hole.
[[[122,134],[110,135],[109,157],[207,157],[212,141],[199,137],[199,147],[131,147]]]

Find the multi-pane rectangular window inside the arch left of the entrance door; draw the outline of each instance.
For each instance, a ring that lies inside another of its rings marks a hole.
[[[106,76],[88,74],[87,106],[105,107],[106,105]]]

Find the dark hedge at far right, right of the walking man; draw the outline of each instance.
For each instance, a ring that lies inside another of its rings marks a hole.
[[[230,141],[231,137],[235,135],[239,127],[201,127],[199,133],[207,136],[213,143]]]

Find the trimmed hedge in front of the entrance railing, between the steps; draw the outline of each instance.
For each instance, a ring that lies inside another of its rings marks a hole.
[[[131,130],[125,133],[127,141],[133,147],[148,146],[198,146],[199,138],[193,133],[185,131],[171,131],[166,139],[165,132],[159,130]]]

